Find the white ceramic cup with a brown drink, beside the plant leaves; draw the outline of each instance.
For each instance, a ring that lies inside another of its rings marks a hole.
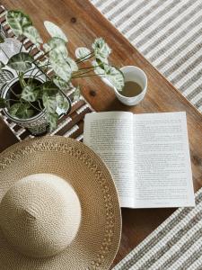
[[[124,103],[127,106],[133,106],[140,103],[144,99],[147,89],[147,77],[145,72],[141,68],[134,66],[121,67],[120,70],[124,74],[125,82],[132,81],[141,86],[142,92],[140,94],[127,97],[122,95],[121,91],[118,91],[108,80],[103,79],[103,81],[114,88],[115,94],[121,103]]]

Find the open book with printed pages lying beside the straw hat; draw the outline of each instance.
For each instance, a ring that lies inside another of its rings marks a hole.
[[[108,166],[121,207],[194,206],[185,112],[92,112],[83,142]]]

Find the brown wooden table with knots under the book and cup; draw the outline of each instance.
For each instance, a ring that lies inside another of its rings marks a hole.
[[[103,37],[113,49],[110,60],[119,67],[135,65],[148,76],[148,93],[135,107],[119,103],[110,88],[99,78],[83,80],[83,95],[95,111],[123,110],[136,113],[185,111],[188,118],[189,147],[195,191],[202,186],[202,115],[171,85],[87,0],[2,0],[7,9],[18,8],[31,15],[44,40],[48,33],[43,21],[60,25],[66,32],[70,54],[78,46],[89,47],[96,37]],[[16,139],[0,122],[0,149]],[[174,209],[123,209],[123,232],[117,264],[137,244],[165,220]]]

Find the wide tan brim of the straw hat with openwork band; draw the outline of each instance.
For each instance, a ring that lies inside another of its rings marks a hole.
[[[75,240],[54,257],[31,258],[15,251],[0,229],[1,269],[108,269],[121,234],[119,198],[109,170],[90,148],[75,139],[46,136],[7,148],[0,156],[0,202],[22,177],[48,173],[71,184],[82,207]],[[1,217],[0,217],[1,218]]]

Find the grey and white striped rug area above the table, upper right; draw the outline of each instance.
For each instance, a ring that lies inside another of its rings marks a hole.
[[[202,112],[201,0],[91,0]]]

